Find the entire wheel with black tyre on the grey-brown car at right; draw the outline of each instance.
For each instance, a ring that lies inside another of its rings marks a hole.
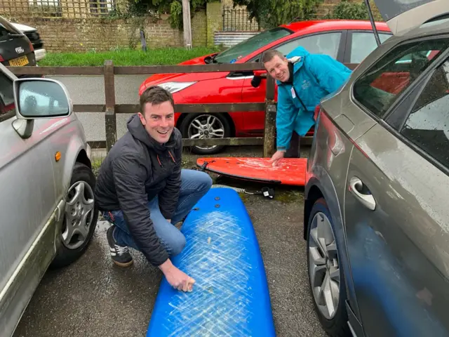
[[[321,245],[317,245],[317,241]],[[326,242],[324,247],[323,242]],[[335,240],[332,216],[326,200],[320,198],[315,201],[307,224],[307,271],[316,315],[330,337],[351,336],[347,324],[344,272],[339,256],[340,247]],[[327,296],[323,295],[325,291],[328,291]]]

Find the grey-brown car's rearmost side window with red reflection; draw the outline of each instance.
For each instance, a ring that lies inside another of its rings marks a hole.
[[[354,98],[382,117],[403,91],[449,47],[449,39],[401,44],[384,54],[354,83]]]

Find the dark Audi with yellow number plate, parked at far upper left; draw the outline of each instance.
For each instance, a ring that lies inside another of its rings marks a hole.
[[[35,66],[34,47],[27,36],[0,16],[0,62],[5,66]]]

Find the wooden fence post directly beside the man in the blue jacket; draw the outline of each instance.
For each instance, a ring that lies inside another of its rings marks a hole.
[[[264,157],[274,154],[274,134],[276,132],[276,103],[274,103],[274,78],[267,74],[265,98]]]

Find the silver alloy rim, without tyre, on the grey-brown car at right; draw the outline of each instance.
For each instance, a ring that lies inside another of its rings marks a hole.
[[[340,265],[328,216],[316,213],[309,235],[309,277],[314,299],[326,319],[333,319],[340,298]]]

